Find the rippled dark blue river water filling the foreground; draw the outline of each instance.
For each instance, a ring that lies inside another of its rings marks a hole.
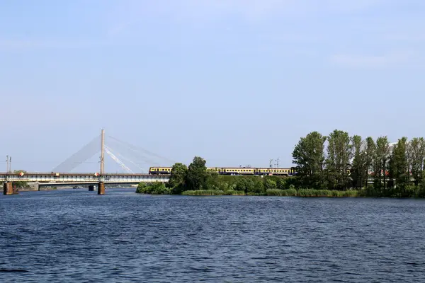
[[[0,282],[425,282],[425,201],[0,196]]]

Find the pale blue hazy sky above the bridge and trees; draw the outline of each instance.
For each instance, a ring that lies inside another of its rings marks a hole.
[[[207,166],[291,166],[312,131],[425,136],[423,0],[5,0],[0,63],[12,169],[50,172],[101,128]]]

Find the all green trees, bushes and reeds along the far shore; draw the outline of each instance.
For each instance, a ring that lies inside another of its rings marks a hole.
[[[262,195],[291,197],[425,198],[425,141],[407,137],[362,139],[334,130],[311,132],[293,150],[295,176],[219,175],[199,156],[175,163],[168,183],[140,183],[136,192],[157,195]]]

